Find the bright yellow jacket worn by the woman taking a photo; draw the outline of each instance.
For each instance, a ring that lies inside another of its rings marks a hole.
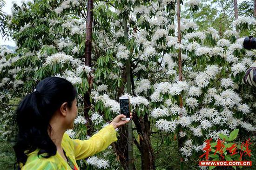
[[[88,140],[71,139],[67,133],[64,133],[61,147],[75,165],[76,170],[79,170],[75,160],[90,157],[106,149],[115,141],[117,141],[115,128],[109,124]],[[27,154],[27,162],[24,166],[21,165],[21,170],[72,170],[58,152],[54,156],[44,158],[37,157],[38,151],[39,149]]]

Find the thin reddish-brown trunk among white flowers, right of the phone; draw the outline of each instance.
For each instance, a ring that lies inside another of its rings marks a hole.
[[[180,10],[181,10],[180,9],[180,0],[177,0],[178,44],[181,44],[181,39],[182,39]],[[182,52],[181,52],[181,49],[179,49],[179,53],[178,53],[178,62],[179,62],[179,81],[182,81]],[[180,107],[182,108],[183,107],[182,95],[179,95],[179,103],[180,103]],[[182,115],[180,115],[180,116],[182,116]],[[181,126],[180,126],[180,131],[182,131]],[[178,140],[178,149],[180,149],[182,147],[183,141],[180,137],[179,131],[177,133],[177,140]],[[184,164],[184,160],[181,155],[181,157],[180,157],[181,170],[183,170],[183,164]]]

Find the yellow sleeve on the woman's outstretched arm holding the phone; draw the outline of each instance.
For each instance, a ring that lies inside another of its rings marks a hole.
[[[88,140],[72,139],[74,144],[75,160],[90,157],[117,141],[116,131],[113,125],[102,128]]]

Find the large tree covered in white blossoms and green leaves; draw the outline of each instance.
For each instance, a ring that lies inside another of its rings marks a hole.
[[[185,5],[195,11],[199,1],[189,0]],[[93,66],[88,67],[83,64],[85,11],[80,0],[14,4],[8,27],[18,47],[15,53],[2,49],[0,60],[0,99],[6,109],[1,114],[6,120],[11,108],[6,105],[17,103],[10,98],[32,92],[36,83],[48,76],[67,78],[76,85],[83,108],[90,74],[94,80],[89,120],[94,132],[119,114],[120,96],[130,97],[141,169],[155,169],[153,133],[166,135],[165,144],[181,139],[178,150],[187,161],[193,153],[203,153],[204,141],[210,137],[229,135],[236,128],[250,136],[246,132],[256,130],[256,95],[243,83],[243,74],[255,54],[243,49],[243,38],[234,31],[252,33],[255,20],[240,17],[232,30],[220,36],[214,28],[199,31],[194,22],[182,19],[178,43],[175,0],[96,1]],[[179,52],[183,81],[178,76]],[[132,94],[125,88],[127,60],[131,63]],[[71,137],[89,137],[84,126],[89,120],[82,115],[76,118],[74,130],[68,131]],[[119,140],[112,147],[122,167],[127,168],[126,129],[119,131]],[[120,168],[115,163],[110,149],[101,158],[87,160],[98,168]]]

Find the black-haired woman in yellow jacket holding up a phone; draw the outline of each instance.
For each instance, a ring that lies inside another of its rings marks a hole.
[[[92,156],[117,141],[115,128],[126,124],[118,115],[89,140],[71,139],[65,131],[74,127],[77,92],[64,78],[41,80],[20,103],[18,140],[14,145],[18,169],[79,170],[75,160]],[[132,116],[130,116],[132,118]]]

